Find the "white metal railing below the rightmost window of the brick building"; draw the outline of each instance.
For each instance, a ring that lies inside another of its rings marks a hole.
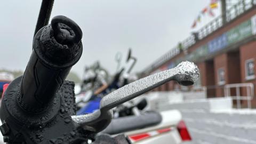
[[[241,95],[241,89],[245,87],[246,95]],[[231,89],[236,90],[235,95],[231,95]],[[226,84],[224,86],[225,97],[236,100],[237,108],[241,108],[241,100],[247,100],[247,107],[251,108],[251,100],[254,97],[254,85],[252,83]]]

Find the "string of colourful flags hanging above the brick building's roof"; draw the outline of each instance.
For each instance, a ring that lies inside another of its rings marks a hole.
[[[191,28],[195,28],[197,22],[201,22],[201,17],[202,15],[205,15],[206,13],[208,13],[211,17],[214,17],[214,13],[213,13],[213,9],[216,9],[218,7],[218,1],[219,0],[211,0],[210,5],[207,5],[206,7],[204,7],[204,9],[198,14],[197,18],[195,19],[193,25],[191,26]]]

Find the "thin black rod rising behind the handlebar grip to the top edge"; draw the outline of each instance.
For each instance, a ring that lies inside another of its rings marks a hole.
[[[54,0],[43,0],[42,1],[38,19],[37,19],[37,23],[36,23],[36,29],[35,29],[34,36],[36,35],[36,33],[39,29],[41,29],[42,27],[44,27],[48,24],[49,19],[51,17],[53,3],[54,3]]]

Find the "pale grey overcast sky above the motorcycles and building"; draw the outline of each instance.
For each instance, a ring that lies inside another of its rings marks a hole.
[[[65,15],[83,30],[83,55],[73,67],[79,76],[85,65],[99,60],[110,73],[117,52],[128,47],[138,58],[134,71],[187,38],[199,11],[210,0],[55,0],[52,17]],[[0,4],[0,68],[25,70],[41,1],[2,1]],[[214,10],[219,14],[219,10]],[[212,18],[206,15],[201,26]],[[198,27],[197,27],[198,28]]]

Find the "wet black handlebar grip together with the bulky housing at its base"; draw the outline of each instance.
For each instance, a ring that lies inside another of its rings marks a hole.
[[[74,83],[65,81],[82,55],[82,31],[63,16],[34,37],[33,52],[22,77],[4,93],[0,130],[8,143],[81,143],[89,135],[77,128]]]

